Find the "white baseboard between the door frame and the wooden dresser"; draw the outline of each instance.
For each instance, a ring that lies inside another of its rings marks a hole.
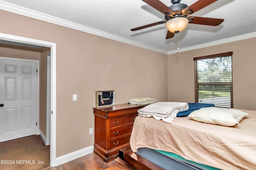
[[[90,153],[93,152],[93,149],[94,149],[94,147],[92,145],[90,147],[80,149],[80,150],[77,150],[75,152],[71,152],[69,154],[65,154],[63,156],[60,156],[60,157],[56,158],[56,166],[59,166],[61,164],[69,162],[71,160],[74,160],[74,159],[80,158],[82,156],[85,156],[87,154],[90,154]]]

